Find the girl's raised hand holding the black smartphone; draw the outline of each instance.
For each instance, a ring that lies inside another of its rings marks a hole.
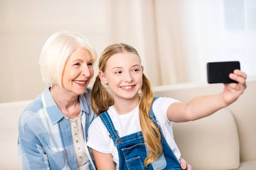
[[[234,73],[230,73],[229,77],[238,83],[224,84],[223,99],[225,105],[235,102],[244,93],[244,89],[246,88],[245,79],[247,75],[241,70],[234,70]]]

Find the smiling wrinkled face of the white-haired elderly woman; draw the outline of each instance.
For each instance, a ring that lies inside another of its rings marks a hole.
[[[90,52],[84,48],[76,48],[67,58],[61,83],[65,90],[73,94],[84,94],[93,74]]]

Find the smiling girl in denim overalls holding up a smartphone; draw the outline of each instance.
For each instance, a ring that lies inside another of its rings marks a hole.
[[[230,79],[239,83],[225,84],[222,93],[187,103],[158,98],[133,47],[114,44],[105,48],[91,99],[99,116],[89,127],[87,142],[98,170],[181,170],[172,122],[201,119],[236,101],[246,88],[246,74],[235,70]]]

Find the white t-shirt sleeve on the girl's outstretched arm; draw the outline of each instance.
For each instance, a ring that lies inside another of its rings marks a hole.
[[[160,119],[160,121],[164,121],[166,123],[170,123],[170,121],[167,117],[167,109],[172,103],[180,103],[180,101],[172,98],[167,97],[159,97],[156,99],[156,101],[153,103],[153,112],[154,114]]]

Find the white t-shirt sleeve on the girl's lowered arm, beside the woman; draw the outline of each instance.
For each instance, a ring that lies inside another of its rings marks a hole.
[[[101,153],[111,153],[108,138],[108,130],[99,116],[96,117],[88,129],[87,146]]]

